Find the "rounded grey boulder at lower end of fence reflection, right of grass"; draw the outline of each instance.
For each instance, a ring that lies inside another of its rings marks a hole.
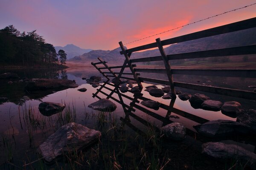
[[[167,138],[180,141],[186,138],[186,127],[181,123],[171,123],[162,127],[163,134],[166,135]]]

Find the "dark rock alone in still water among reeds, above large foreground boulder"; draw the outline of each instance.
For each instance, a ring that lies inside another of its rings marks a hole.
[[[61,103],[41,102],[38,106],[38,109],[44,116],[51,116],[55,113],[63,111],[65,107],[66,106]]]

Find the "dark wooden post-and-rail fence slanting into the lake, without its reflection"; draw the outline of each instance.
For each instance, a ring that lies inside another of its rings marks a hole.
[[[210,37],[225,33],[230,33],[234,31],[240,31],[248,28],[256,27],[256,17],[248,20],[239,21],[236,23],[227,24],[224,26],[219,26],[215,28],[210,28],[204,31],[198,31],[192,34],[186,34],[180,37],[175,37],[167,40],[161,41],[159,38],[156,39],[156,42],[138,46],[135,48],[130,48],[125,50],[122,42],[119,42],[119,45],[122,49],[120,54],[125,56],[125,62],[123,65],[108,67],[105,61],[99,58],[100,62],[93,63],[94,65],[105,77],[116,77],[117,79],[125,78],[135,80],[137,84],[142,88],[141,82],[155,82],[164,85],[170,85],[173,97],[175,96],[175,87],[180,88],[188,88],[198,91],[205,91],[215,94],[222,94],[227,96],[235,96],[241,97],[244,99],[256,99],[256,92],[252,91],[243,91],[239,89],[230,89],[230,88],[221,88],[221,87],[213,87],[207,85],[198,85],[192,83],[185,82],[175,82],[173,80],[173,74],[188,74],[188,75],[203,75],[203,76],[224,76],[224,77],[249,77],[256,78],[256,70],[255,69],[172,69],[169,63],[170,60],[174,59],[196,59],[196,58],[206,58],[206,57],[224,57],[224,56],[237,56],[237,55],[247,55],[247,54],[256,54],[256,45],[247,45],[233,48],[222,48],[222,49],[214,49],[207,51],[196,51],[196,52],[188,52],[181,54],[169,54],[166,55],[163,49],[164,45],[171,45],[174,43],[185,42],[189,40],[196,40],[204,37]],[[146,57],[139,59],[130,59],[131,54],[136,51],[147,50],[150,48],[158,48],[161,56],[155,57]],[[161,69],[153,69],[153,68],[137,68],[137,65],[134,63],[137,62],[151,62],[151,61],[163,61],[165,68]],[[105,67],[97,67],[97,64],[103,64]],[[111,69],[113,68],[121,68],[119,72],[113,72]],[[130,68],[131,72],[125,73],[123,72],[125,68]],[[102,69],[108,69],[109,72],[102,71]],[[140,73],[137,72],[147,72],[147,73],[160,73],[166,74],[168,80],[163,79],[152,79],[150,77],[141,77]],[[107,75],[112,74],[112,75]],[[123,77],[122,74],[133,75],[134,78]],[[109,79],[109,78],[108,78]]]

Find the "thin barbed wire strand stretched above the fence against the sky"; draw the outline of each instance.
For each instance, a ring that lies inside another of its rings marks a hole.
[[[247,6],[244,6],[244,7],[232,9],[232,10],[230,10],[230,11],[226,11],[226,12],[223,12],[223,13],[221,13],[221,14],[216,14],[216,15],[213,15],[213,16],[211,16],[211,17],[207,17],[207,18],[204,18],[204,19],[202,19],[202,20],[195,21],[195,22],[193,22],[193,23],[188,23],[188,24],[183,25],[183,26],[179,26],[179,27],[176,27],[176,28],[169,29],[169,30],[167,30],[167,31],[163,31],[163,32],[160,32],[160,33],[157,33],[157,34],[150,35],[150,36],[148,36],[148,37],[144,37],[144,38],[141,38],[141,39],[138,39],[138,40],[134,40],[134,41],[131,41],[131,42],[127,42],[127,43],[125,43],[124,45],[131,44],[131,43],[137,42],[137,41],[141,41],[141,40],[144,40],[144,39],[147,39],[147,38],[150,38],[150,37],[154,37],[154,36],[156,36],[156,35],[164,34],[164,33],[166,33],[166,32],[173,31],[173,30],[175,30],[175,29],[183,28],[183,27],[185,27],[185,26],[189,26],[189,25],[192,25],[192,24],[195,24],[195,23],[199,23],[199,22],[201,22],[201,21],[208,20],[208,19],[213,18],[213,17],[218,17],[218,16],[220,16],[220,15],[227,14],[227,13],[229,13],[229,12],[233,12],[233,11],[236,11],[236,10],[239,10],[239,9],[247,8],[247,7],[253,6],[253,5],[256,5],[256,3],[250,4],[250,5],[247,5]],[[106,54],[106,55],[103,56],[102,58],[104,58],[104,57],[106,57],[107,55],[111,54],[113,51],[117,50],[118,48],[119,48],[119,47],[117,47],[117,48],[111,50],[108,54]],[[97,59],[96,59],[95,61],[97,61]],[[94,62],[94,61],[93,61],[93,62]]]

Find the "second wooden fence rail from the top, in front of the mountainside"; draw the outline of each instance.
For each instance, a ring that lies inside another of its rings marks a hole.
[[[195,58],[205,58],[205,57],[221,57],[221,56],[235,56],[235,55],[249,55],[256,54],[256,45],[247,45],[241,47],[232,47],[232,48],[221,48],[215,50],[206,50],[206,51],[195,51],[189,53],[180,53],[180,54],[169,54],[167,55],[169,60],[173,59],[195,59]],[[150,62],[150,61],[162,61],[161,56],[155,57],[145,57],[138,59],[131,59],[132,63],[134,62]]]

